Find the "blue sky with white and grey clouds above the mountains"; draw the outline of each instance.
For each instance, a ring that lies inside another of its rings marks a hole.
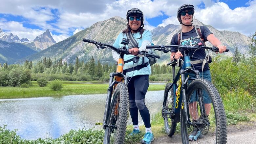
[[[194,18],[217,30],[256,31],[256,0],[0,0],[0,28],[33,40],[49,29],[56,42],[127,10],[144,13],[145,28],[177,24],[182,4],[195,6]]]

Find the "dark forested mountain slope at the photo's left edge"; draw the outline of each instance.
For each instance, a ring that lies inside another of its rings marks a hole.
[[[0,40],[0,63],[15,63],[18,59],[36,53],[21,43],[9,43]]]

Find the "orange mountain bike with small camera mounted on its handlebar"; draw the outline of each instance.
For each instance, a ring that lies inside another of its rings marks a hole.
[[[120,54],[116,73],[110,73],[103,123],[96,124],[102,125],[105,130],[103,144],[123,144],[129,116],[129,94],[127,88],[129,77],[123,74],[123,57],[124,54],[129,54],[129,50],[126,48],[126,45],[129,44],[129,39],[123,38],[121,42],[123,47],[121,48],[85,38],[83,38],[83,41],[95,44],[98,49],[112,49]],[[150,54],[146,51],[138,51],[138,54],[160,58],[159,55]]]

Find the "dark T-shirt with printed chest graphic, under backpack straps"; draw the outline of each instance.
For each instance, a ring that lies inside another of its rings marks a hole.
[[[202,35],[203,35],[203,39],[204,40],[207,40],[206,37],[209,35],[209,34],[212,34],[212,32],[205,26],[200,26],[201,28],[201,32],[202,32]],[[187,38],[191,38],[191,37],[197,37],[197,33],[196,33],[196,30],[195,30],[195,27],[193,30],[191,31],[188,31],[188,32],[182,32],[182,39],[187,39]],[[196,38],[196,39],[192,39],[191,40],[191,44],[192,46],[197,46],[198,43],[202,42],[200,40],[200,38]],[[202,42],[203,43],[203,42]],[[174,34],[173,37],[172,37],[172,41],[171,41],[171,45],[179,45],[178,44],[178,33]],[[181,46],[187,46],[187,45],[190,45],[190,40],[186,40],[186,41],[183,41],[181,42]],[[176,48],[172,48],[172,50],[177,50]],[[177,52],[176,51],[176,52]],[[180,50],[182,55],[184,56],[184,51],[183,50]],[[189,51],[189,56],[190,56],[190,60],[200,60],[200,59],[204,59],[205,56],[206,56],[206,53],[205,53],[205,50],[204,49],[200,49],[200,50],[197,50],[194,55],[193,55],[194,51]],[[192,55],[193,55],[193,59],[192,59]],[[182,57],[183,59],[184,57]],[[183,59],[184,60],[184,59]],[[196,70],[198,70],[199,72],[202,72],[202,63],[201,64],[193,64],[194,68]],[[193,68],[193,67],[192,67]],[[209,67],[209,64],[206,63],[204,65],[204,68],[203,68],[203,71],[205,70],[210,70],[210,67]]]

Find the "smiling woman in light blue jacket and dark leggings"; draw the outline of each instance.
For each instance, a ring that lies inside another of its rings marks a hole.
[[[129,92],[129,111],[133,122],[134,130],[131,135],[139,134],[138,110],[146,128],[146,134],[141,140],[143,144],[150,144],[154,140],[151,131],[150,115],[148,108],[145,105],[145,94],[149,86],[149,74],[151,67],[147,57],[136,56],[138,51],[147,51],[146,46],[152,43],[152,33],[143,29],[144,16],[141,10],[133,8],[127,11],[127,29],[119,33],[113,46],[119,48],[123,45],[122,38],[127,38],[127,35],[133,36],[135,42],[130,39],[129,48],[130,55],[124,55],[124,73],[130,77],[128,82]],[[117,61],[119,54],[112,51],[113,58]]]

